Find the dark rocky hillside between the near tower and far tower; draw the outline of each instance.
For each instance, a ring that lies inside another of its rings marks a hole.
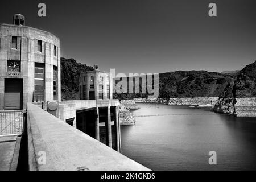
[[[61,100],[79,100],[79,73],[93,70],[74,59],[61,57]]]

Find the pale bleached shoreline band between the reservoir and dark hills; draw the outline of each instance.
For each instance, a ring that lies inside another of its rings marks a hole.
[[[214,113],[233,115],[234,117],[256,117],[256,98],[135,98],[122,100],[119,106],[120,125],[135,125],[131,111],[139,109],[136,103],[155,103],[164,105],[188,106],[195,109],[209,109]],[[235,104],[234,104],[235,103]]]

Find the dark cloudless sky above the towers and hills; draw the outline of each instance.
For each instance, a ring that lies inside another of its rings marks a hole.
[[[47,6],[39,18],[38,3]],[[217,18],[208,16],[210,2]],[[116,73],[233,71],[256,60],[255,0],[1,1],[0,22],[15,13],[61,40],[61,57]]]

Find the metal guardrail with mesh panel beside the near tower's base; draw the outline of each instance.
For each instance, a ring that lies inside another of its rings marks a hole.
[[[0,137],[21,135],[26,110],[0,111]]]

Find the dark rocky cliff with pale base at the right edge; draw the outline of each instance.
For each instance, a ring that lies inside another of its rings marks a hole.
[[[256,61],[238,72],[234,84],[226,89],[224,97],[220,97],[213,110],[236,116],[256,115]],[[232,86],[232,89],[230,89]]]

